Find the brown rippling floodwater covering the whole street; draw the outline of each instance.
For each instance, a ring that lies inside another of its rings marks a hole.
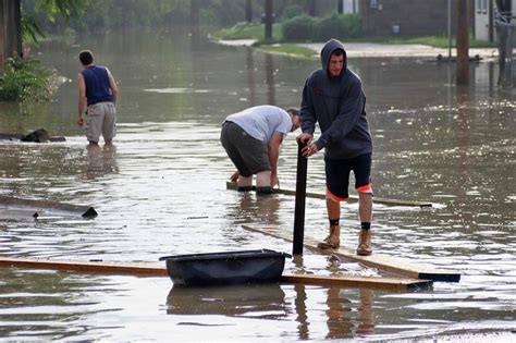
[[[76,126],[76,60],[91,49],[118,79],[118,136],[87,149]],[[233,167],[219,143],[225,115],[246,107],[299,106],[318,60],[223,47],[177,33],[126,33],[47,42],[40,59],[66,82],[49,103],[0,103],[0,132],[45,127],[65,143],[0,142],[0,194],[94,206],[83,220],[0,212],[0,255],[160,264],[160,256],[271,248],[291,243],[242,224],[292,232],[294,198],[225,188]],[[168,278],[0,268],[0,340],[321,341],[516,339],[514,91],[497,64],[471,64],[471,86],[431,58],[360,58],[374,138],[376,253],[462,273],[459,283],[386,292],[273,284],[201,290]],[[297,147],[282,147],[280,181],[295,188]],[[308,161],[308,191],[323,192],[323,161]],[[356,204],[343,205],[345,246],[357,243]],[[323,237],[323,200],[307,199],[305,235]],[[305,250],[288,272],[378,275]]]

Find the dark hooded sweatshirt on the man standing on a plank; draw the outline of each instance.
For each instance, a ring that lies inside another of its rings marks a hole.
[[[333,51],[344,52],[344,68],[330,76],[328,66]],[[303,88],[302,130],[314,135],[319,122],[321,136],[315,143],[325,149],[325,158],[349,159],[372,152],[372,139],[366,119],[366,96],[360,78],[347,69],[344,46],[330,39],[321,50],[322,69],[314,71]]]

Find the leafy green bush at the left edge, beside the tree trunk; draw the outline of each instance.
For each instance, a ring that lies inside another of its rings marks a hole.
[[[10,59],[0,73],[0,100],[47,100],[50,72],[37,60]]]

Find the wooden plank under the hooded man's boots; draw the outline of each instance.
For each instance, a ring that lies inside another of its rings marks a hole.
[[[292,242],[292,235],[284,231],[275,229],[258,229],[248,225],[242,225],[245,230],[259,232],[277,238]],[[351,261],[359,262],[366,267],[377,268],[379,270],[405,275],[413,279],[443,281],[443,282],[458,282],[460,274],[454,271],[440,270],[430,265],[414,264],[406,258],[393,257],[389,255],[372,254],[371,256],[359,256],[355,249],[340,247],[337,249],[320,249],[317,247],[319,241],[312,237],[305,236],[305,247],[320,254],[331,254],[345,258]]]

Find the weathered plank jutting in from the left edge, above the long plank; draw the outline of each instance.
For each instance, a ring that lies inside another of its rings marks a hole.
[[[0,206],[21,210],[34,210],[33,217],[37,218],[37,211],[49,210],[56,212],[77,213],[83,218],[95,218],[97,211],[90,206],[79,206],[49,200],[22,199],[0,195]]]

